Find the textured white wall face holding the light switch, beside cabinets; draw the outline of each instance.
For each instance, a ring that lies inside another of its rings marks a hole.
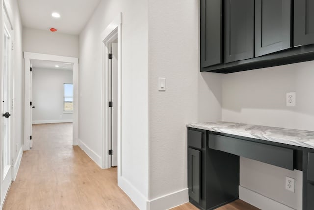
[[[199,0],[150,0],[150,200],[184,191],[188,202],[186,124],[221,120],[222,75],[200,73],[199,52]]]

